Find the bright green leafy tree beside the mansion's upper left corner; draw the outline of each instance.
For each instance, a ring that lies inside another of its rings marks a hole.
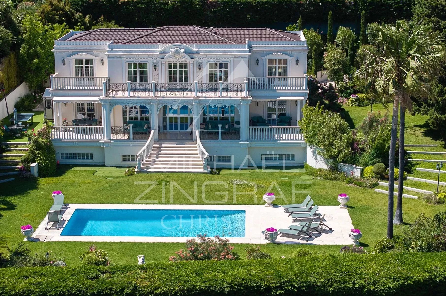
[[[40,18],[28,15],[22,22],[23,44],[19,64],[24,80],[35,90],[54,73],[54,40],[68,33],[65,25],[43,25]]]

